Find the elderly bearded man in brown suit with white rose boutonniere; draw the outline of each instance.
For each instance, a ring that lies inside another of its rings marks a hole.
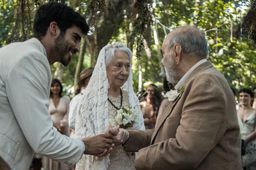
[[[162,53],[167,80],[177,84],[167,95],[174,101],[156,129],[119,129],[115,141],[139,151],[137,170],[240,170],[235,99],[225,77],[206,60],[206,39],[194,27],[179,27],[164,39]]]

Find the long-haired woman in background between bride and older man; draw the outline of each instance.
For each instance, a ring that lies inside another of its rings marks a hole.
[[[155,128],[157,113],[163,97],[158,87],[154,84],[150,84],[146,88],[146,91],[148,94],[145,101],[140,102],[140,107],[144,118],[145,128],[153,129]]]

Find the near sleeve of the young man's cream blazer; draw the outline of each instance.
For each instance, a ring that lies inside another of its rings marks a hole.
[[[83,143],[61,135],[53,127],[48,111],[48,82],[51,79],[46,57],[31,52],[17,61],[8,73],[6,92],[19,126],[32,149],[67,165],[83,154]]]

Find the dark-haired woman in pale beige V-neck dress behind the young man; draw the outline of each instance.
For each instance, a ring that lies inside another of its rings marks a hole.
[[[62,96],[62,85],[58,79],[53,79],[51,84],[49,98],[49,112],[52,117],[53,126],[66,136],[69,136],[68,112],[70,98]],[[43,156],[42,165],[44,170],[70,170],[69,166],[65,166],[53,159]]]

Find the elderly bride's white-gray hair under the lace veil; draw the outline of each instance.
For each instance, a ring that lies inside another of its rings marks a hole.
[[[106,65],[106,67],[114,60],[114,58],[115,58],[114,53],[115,53],[116,50],[121,50],[121,51],[126,52],[129,56],[130,65],[132,64],[132,52],[131,52],[131,50],[126,46],[121,46],[121,47],[114,47],[114,48],[110,48],[110,49],[106,50],[106,52],[105,52],[105,65]]]

